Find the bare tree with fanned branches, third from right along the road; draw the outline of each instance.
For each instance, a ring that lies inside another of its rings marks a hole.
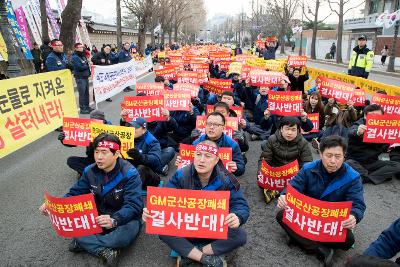
[[[274,0],[272,16],[279,26],[279,39],[281,40],[281,54],[285,53],[285,35],[291,25],[292,18],[298,7],[298,0]]]

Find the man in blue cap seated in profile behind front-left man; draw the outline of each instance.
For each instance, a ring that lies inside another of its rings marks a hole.
[[[158,186],[162,172],[160,142],[147,130],[147,121],[135,118],[126,122],[125,126],[135,127],[134,148],[128,150],[127,160],[137,168],[142,179],[143,190],[148,186]]]

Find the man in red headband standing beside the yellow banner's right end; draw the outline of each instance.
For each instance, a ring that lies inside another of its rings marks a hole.
[[[72,54],[72,65],[74,66],[74,77],[79,93],[79,108],[81,114],[89,114],[93,109],[89,106],[89,77],[90,66],[83,51],[83,45],[76,43],[75,52]]]

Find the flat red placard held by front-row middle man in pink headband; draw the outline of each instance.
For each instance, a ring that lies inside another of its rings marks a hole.
[[[146,234],[227,239],[229,191],[147,188]]]

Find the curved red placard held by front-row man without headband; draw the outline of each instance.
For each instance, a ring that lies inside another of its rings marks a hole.
[[[305,196],[287,185],[288,209],[283,222],[298,235],[317,242],[344,242],[342,222],[350,216],[351,201],[327,202]]]

